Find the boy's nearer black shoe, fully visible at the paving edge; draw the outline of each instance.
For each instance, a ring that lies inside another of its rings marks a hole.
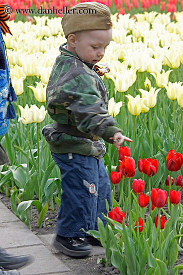
[[[62,237],[56,235],[53,245],[59,251],[73,257],[87,256],[92,251],[92,246],[78,237]]]

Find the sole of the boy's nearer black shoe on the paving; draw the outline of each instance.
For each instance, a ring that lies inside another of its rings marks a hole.
[[[62,243],[60,243],[56,239],[53,240],[52,244],[58,251],[61,251],[62,253],[66,254],[68,256],[73,256],[73,257],[87,256],[92,251],[92,249],[90,249],[90,250],[81,250],[81,251],[71,250],[71,249],[68,249],[67,247],[65,247]]]

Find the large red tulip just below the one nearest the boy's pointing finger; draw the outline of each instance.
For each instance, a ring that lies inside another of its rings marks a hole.
[[[125,155],[123,160],[119,160],[119,162],[125,177],[132,177],[135,175],[135,160],[133,157]]]

